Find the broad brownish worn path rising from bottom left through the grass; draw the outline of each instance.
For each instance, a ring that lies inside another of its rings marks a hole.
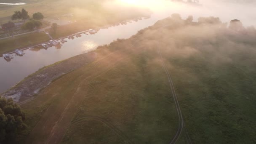
[[[110,55],[95,62],[90,71],[81,67],[70,72],[64,79],[58,79],[45,90],[43,94],[54,91],[59,96],[44,112],[35,128],[27,137],[27,144],[57,144],[60,143],[66,129],[75,115],[77,108],[82,103],[86,95],[89,94],[88,81],[94,77],[104,74],[115,67],[115,64],[122,61],[122,55]],[[107,61],[107,63],[106,63]],[[61,85],[61,88],[58,88]],[[57,89],[57,91],[56,91]]]

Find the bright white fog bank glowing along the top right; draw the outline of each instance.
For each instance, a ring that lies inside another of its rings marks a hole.
[[[219,17],[223,22],[239,19],[245,26],[256,24],[256,2],[252,0],[199,0],[199,5],[171,0],[115,0],[115,3],[137,8],[149,8],[152,12],[180,13],[183,18],[193,15]]]

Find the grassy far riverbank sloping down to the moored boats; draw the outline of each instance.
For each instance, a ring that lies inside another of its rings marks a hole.
[[[100,27],[111,27],[114,25],[119,25],[123,21],[127,23],[127,21],[131,20],[139,20],[141,17],[148,17],[149,15],[141,14],[136,18],[123,18],[118,20],[111,20],[110,22],[96,22],[96,21],[89,21],[85,23],[85,21],[74,22],[72,24],[62,25],[59,26],[56,30],[56,33],[52,31],[51,28],[46,29],[45,31],[49,32],[50,35],[54,39],[59,39],[61,37],[67,37],[68,35],[75,34],[77,32],[85,31],[88,29],[99,29]],[[19,35],[16,37],[11,37],[8,39],[0,40],[0,56],[4,53],[9,53],[15,49],[22,49],[26,47],[30,47],[33,45],[37,45],[40,43],[45,43],[46,41],[51,40],[48,35],[44,32],[33,32],[24,35]]]

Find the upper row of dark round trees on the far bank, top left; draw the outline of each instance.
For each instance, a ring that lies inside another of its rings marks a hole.
[[[32,17],[35,20],[42,20],[44,18],[43,14],[40,12],[34,13]],[[16,19],[26,20],[29,18],[30,16],[28,15],[28,12],[24,8],[22,8],[21,11],[14,11],[14,14],[11,16],[12,20],[16,20]]]

